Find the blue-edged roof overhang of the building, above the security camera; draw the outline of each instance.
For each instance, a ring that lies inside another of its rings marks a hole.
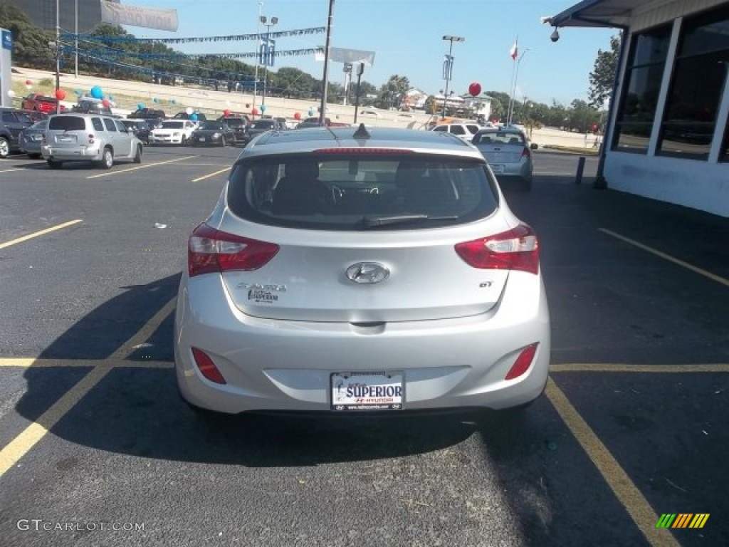
[[[622,27],[646,4],[655,7],[656,2],[645,0],[583,0],[564,12],[542,18],[542,23],[551,26],[603,26]],[[668,1],[666,1],[668,4]]]

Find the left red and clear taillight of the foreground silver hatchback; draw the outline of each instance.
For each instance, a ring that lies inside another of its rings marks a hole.
[[[234,236],[206,224],[192,231],[187,245],[190,277],[230,270],[257,270],[276,256],[278,245]]]

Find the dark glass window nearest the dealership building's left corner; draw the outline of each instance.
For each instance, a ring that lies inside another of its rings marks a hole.
[[[633,35],[612,150],[647,153],[670,40],[670,25]]]

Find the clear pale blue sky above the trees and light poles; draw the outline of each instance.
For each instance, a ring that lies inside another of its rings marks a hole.
[[[330,0],[122,0],[161,9],[176,9],[176,32],[125,26],[137,37],[187,38],[265,32],[258,16],[277,17],[271,31],[327,26]],[[519,101],[569,106],[573,99],[588,100],[589,74],[598,50],[609,50],[616,29],[561,28],[558,42],[553,28],[539,18],[556,15],[577,0],[335,0],[332,47],[375,52],[373,66],[362,80],[380,88],[394,74],[408,77],[410,85],[436,94],[445,87],[443,58],[450,42],[443,36],[462,36],[453,43],[453,76],[448,85],[468,93],[477,82],[483,91],[510,93],[518,66],[515,97]],[[521,61],[510,50],[518,39]],[[326,34],[277,39],[277,50],[324,47]],[[169,44],[182,53],[252,53],[254,41]],[[253,59],[241,59],[254,64]],[[313,55],[276,58],[276,71],[292,66],[323,77],[324,63]],[[330,63],[330,82],[344,83],[342,63]]]

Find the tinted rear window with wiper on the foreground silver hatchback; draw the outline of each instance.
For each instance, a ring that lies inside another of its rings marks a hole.
[[[473,222],[497,206],[479,160],[442,155],[285,155],[233,166],[238,217],[312,230],[413,230]]]

